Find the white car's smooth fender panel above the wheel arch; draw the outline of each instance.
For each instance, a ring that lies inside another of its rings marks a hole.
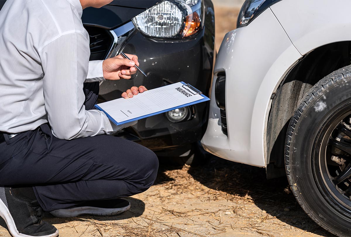
[[[350,0],[282,0],[271,6],[302,55],[326,44],[351,40],[350,8]]]

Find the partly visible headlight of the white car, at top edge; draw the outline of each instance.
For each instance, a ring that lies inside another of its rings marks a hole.
[[[237,27],[249,24],[259,14],[281,0],[246,0],[241,7]]]

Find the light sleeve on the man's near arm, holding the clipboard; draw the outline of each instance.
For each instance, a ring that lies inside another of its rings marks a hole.
[[[90,50],[82,33],[60,36],[42,48],[39,56],[44,72],[45,109],[54,136],[71,140],[113,134],[135,124],[117,126],[102,111],[85,110],[83,83],[90,66]]]

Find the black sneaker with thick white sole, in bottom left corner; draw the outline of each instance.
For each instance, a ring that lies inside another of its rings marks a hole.
[[[17,188],[16,188],[17,190]],[[12,188],[0,186],[0,216],[13,237],[56,237],[55,226],[41,220],[42,209],[35,199],[18,195]]]

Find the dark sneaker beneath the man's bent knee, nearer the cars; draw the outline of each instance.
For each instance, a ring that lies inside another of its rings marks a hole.
[[[131,207],[129,201],[124,199],[84,201],[65,209],[58,209],[50,213],[55,217],[77,217],[80,215],[114,216],[128,211]]]

